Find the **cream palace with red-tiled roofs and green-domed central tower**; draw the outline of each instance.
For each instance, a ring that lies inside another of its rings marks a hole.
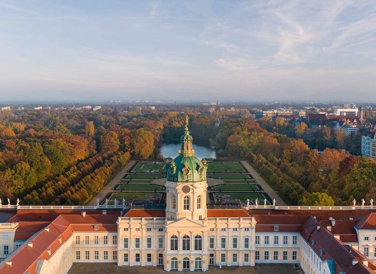
[[[187,123],[188,124],[188,123]],[[207,271],[294,263],[306,274],[376,271],[376,207],[211,205],[186,126],[166,165],[166,207],[0,205],[0,273],[65,274],[75,262]]]

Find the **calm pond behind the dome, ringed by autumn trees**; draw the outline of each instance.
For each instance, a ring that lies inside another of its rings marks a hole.
[[[180,142],[164,142],[161,146],[161,154],[163,157],[171,157],[174,159],[179,155],[179,149],[180,149]],[[202,146],[202,145],[195,145],[193,144],[193,149],[195,149],[195,156],[198,159],[203,159],[203,158],[216,158],[216,154],[214,149],[211,147],[207,146]]]

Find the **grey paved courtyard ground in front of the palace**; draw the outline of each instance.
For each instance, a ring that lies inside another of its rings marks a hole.
[[[156,266],[118,266],[116,263],[74,263],[68,274],[162,274],[167,273]],[[173,272],[170,273],[182,273]],[[186,272],[184,272],[186,273]],[[292,264],[256,264],[256,266],[210,266],[209,271],[195,274],[302,274]]]

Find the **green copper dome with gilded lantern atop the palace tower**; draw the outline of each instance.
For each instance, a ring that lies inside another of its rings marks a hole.
[[[171,163],[166,164],[167,180],[171,182],[201,182],[206,181],[208,164],[202,163],[192,149],[192,136],[188,131],[188,116],[185,122],[185,132],[181,136],[181,149],[179,156]]]

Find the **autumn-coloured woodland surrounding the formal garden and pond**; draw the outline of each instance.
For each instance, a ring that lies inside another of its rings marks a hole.
[[[85,204],[130,158],[161,159],[159,145],[180,138],[186,114],[195,143],[214,146],[222,159],[249,160],[288,204],[349,205],[354,198],[375,197],[376,162],[341,150],[351,143],[343,136],[312,132],[305,139],[301,126],[266,130],[263,121],[235,115],[221,116],[215,127],[214,115],[185,108],[1,113],[0,198],[25,205]],[[308,145],[317,138],[323,139],[319,147]]]

